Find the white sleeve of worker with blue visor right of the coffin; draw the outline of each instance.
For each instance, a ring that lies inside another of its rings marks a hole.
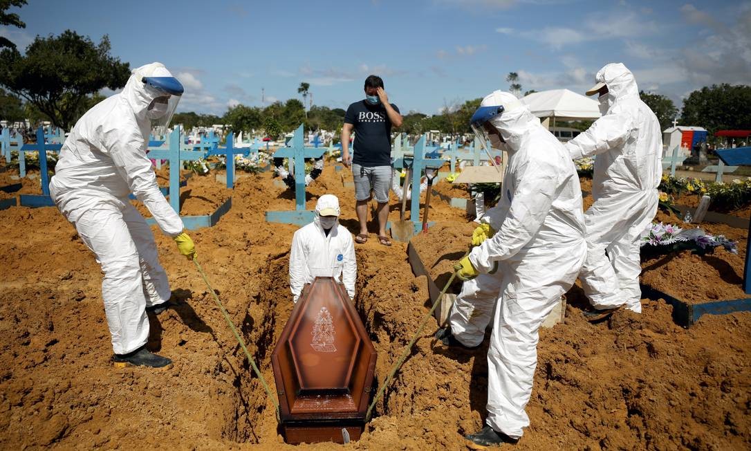
[[[512,183],[504,180],[503,194],[511,197],[511,207],[493,238],[485,240],[469,254],[472,265],[487,273],[499,260],[510,259],[537,235],[550,211],[558,183],[556,168],[544,158],[530,159],[515,171]],[[513,189],[513,192],[507,192]]]

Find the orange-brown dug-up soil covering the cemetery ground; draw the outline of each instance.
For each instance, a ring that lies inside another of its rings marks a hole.
[[[8,184],[7,177],[0,173],[0,185]],[[327,163],[307,189],[307,207],[324,193],[339,196],[341,222],[356,232],[349,180],[348,171]],[[38,192],[34,183],[24,180],[22,191]],[[589,190],[586,180],[583,189]],[[463,194],[445,181],[436,192]],[[206,214],[226,195],[213,176],[191,177],[182,189],[181,213]],[[293,210],[294,194],[275,186],[266,172],[239,178],[231,195],[231,210],[215,226],[190,235],[273,390],[270,353],[292,310],[288,257],[296,227],[267,223],[264,212]],[[399,207],[392,195],[391,220]],[[659,220],[680,222],[659,214]],[[473,223],[438,195],[430,219],[436,225],[413,244],[440,288],[466,251]],[[740,295],[733,288],[740,290],[746,229],[703,227],[737,241],[739,256],[718,249],[707,256],[684,251],[646,259],[642,280],[675,296]],[[149,348],[174,365],[116,369],[101,272],[72,225],[54,207],[0,211],[0,447],[288,447],[272,402],[194,265],[170,238],[152,230],[179,304],[149,317]],[[369,241],[355,245],[354,304],[379,353],[375,374],[382,382],[430,301],[426,277],[412,274],[406,244],[384,247],[375,235],[371,229]],[[751,446],[751,313],[705,315],[682,328],[670,305],[644,299],[641,315],[619,312],[590,324],[581,315],[586,301],[578,286],[568,301],[565,322],[541,330],[527,407],[532,424],[514,449]],[[480,427],[487,341],[474,353],[454,352],[436,344],[435,322],[429,324],[363,437],[349,447],[462,449],[463,434]]]

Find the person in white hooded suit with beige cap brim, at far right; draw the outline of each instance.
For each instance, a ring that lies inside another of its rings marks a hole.
[[[639,238],[657,213],[662,177],[662,132],[655,114],[639,98],[625,65],[600,69],[596,85],[602,117],[566,143],[572,159],[596,156],[594,204],[584,214],[587,259],[580,279],[602,319],[622,306],[641,313]]]

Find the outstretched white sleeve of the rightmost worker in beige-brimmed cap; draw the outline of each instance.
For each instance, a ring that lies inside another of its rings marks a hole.
[[[597,155],[620,147],[629,138],[632,119],[630,114],[605,114],[586,132],[564,144],[572,159]]]

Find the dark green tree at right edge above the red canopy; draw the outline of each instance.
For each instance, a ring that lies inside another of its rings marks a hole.
[[[751,86],[728,83],[704,86],[683,101],[680,122],[718,130],[751,129]]]

